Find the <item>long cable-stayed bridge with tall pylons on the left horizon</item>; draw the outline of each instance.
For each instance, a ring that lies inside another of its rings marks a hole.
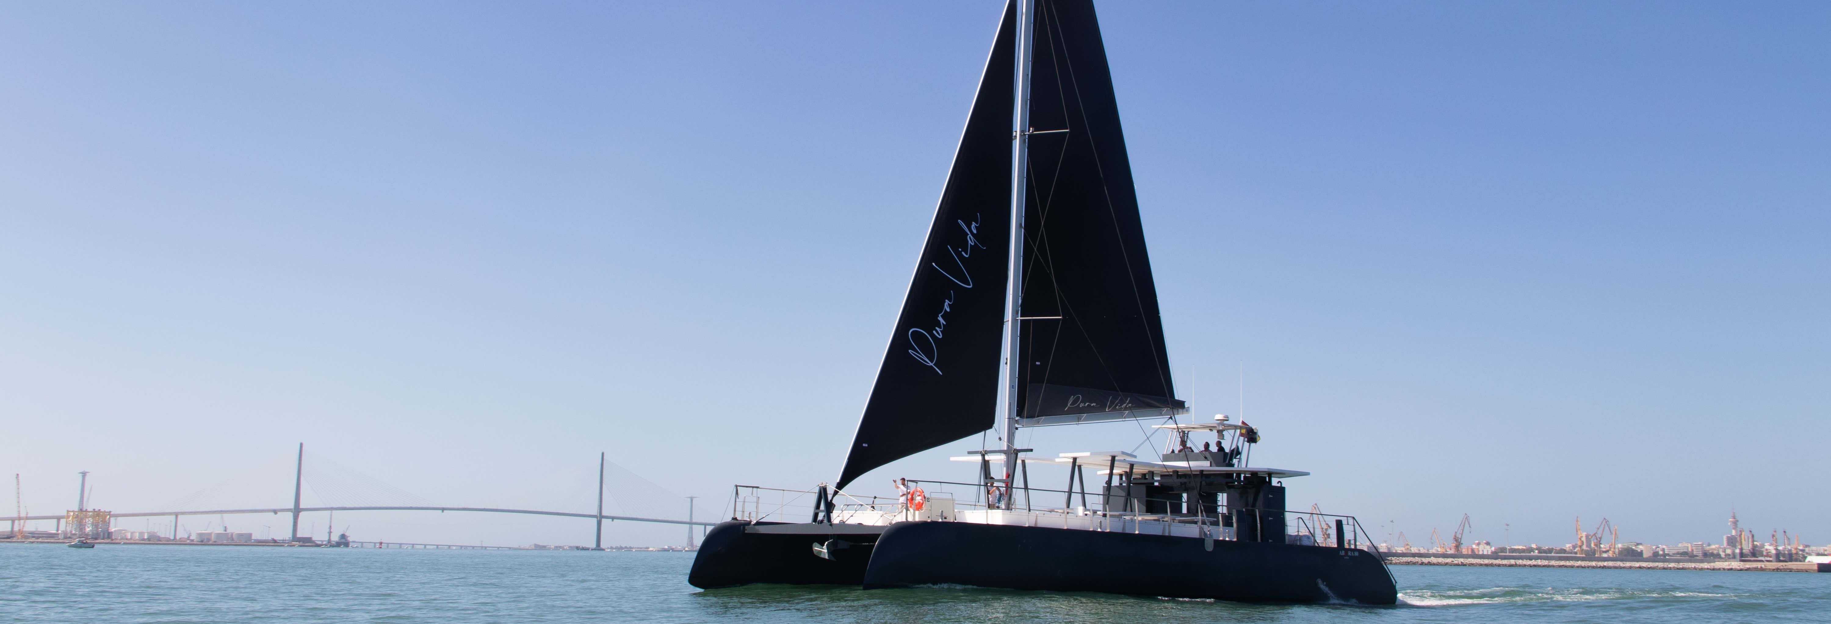
[[[593,549],[602,549],[604,547],[604,520],[612,520],[612,522],[619,522],[619,520],[621,522],[652,522],[652,523],[685,525],[687,527],[687,545],[688,547],[692,547],[692,527],[712,527],[712,525],[716,525],[716,522],[696,522],[696,520],[692,520],[692,500],[696,496],[685,496],[688,500],[687,520],[604,514],[604,465],[606,465],[606,457],[604,457],[604,454],[599,454],[599,457],[597,457],[597,511],[595,512],[542,511],[542,509],[509,509],[509,507],[452,507],[452,505],[337,505],[337,507],[304,507],[304,505],[300,505],[300,501],[302,501],[302,494],[304,494],[306,445],[300,443],[298,445],[298,459],[297,459],[295,474],[293,474],[293,505],[291,507],[137,511],[137,512],[103,512],[103,514],[106,514],[108,522],[112,522],[114,518],[165,518],[165,516],[170,516],[172,518],[172,538],[174,540],[179,538],[178,536],[178,527],[179,527],[178,518],[181,518],[181,516],[291,514],[293,516],[293,533],[291,533],[291,540],[287,540],[287,542],[309,542],[309,538],[302,538],[298,534],[298,516],[306,514],[306,512],[320,512],[320,511],[328,511],[328,512],[339,512],[339,511],[436,511],[436,512],[449,512],[449,511],[456,511],[456,512],[485,512],[485,514],[527,514],[527,516],[588,518],[588,520],[597,522],[597,531],[595,531],[597,534],[593,538]],[[88,472],[86,470],[82,472],[82,481],[88,481]],[[646,479],[643,479],[643,481],[646,481]],[[82,514],[82,512],[86,512],[84,511],[86,496],[88,496],[88,485],[81,485],[79,487],[79,498],[77,498],[77,511],[73,511],[73,512],[66,512],[66,514],[60,514],[60,516],[26,516],[26,514],[20,514],[20,516],[4,518],[4,520],[11,520],[13,522],[11,523],[13,529],[22,529],[24,522],[31,522],[31,520],[57,520],[57,522],[64,522],[64,520],[77,518],[77,520],[71,520],[71,522],[79,523],[77,527],[62,527],[62,525],[59,525],[59,533],[62,534],[68,529],[68,531],[75,531],[73,534],[81,536],[81,534],[90,534],[95,529],[106,531],[106,525],[95,527],[95,525],[88,525],[86,523],[88,518],[92,518],[92,516],[84,516]],[[90,512],[90,514],[93,514],[93,512]]]

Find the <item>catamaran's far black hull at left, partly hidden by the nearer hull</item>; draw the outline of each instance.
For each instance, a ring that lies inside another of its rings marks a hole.
[[[721,522],[705,534],[687,582],[699,589],[749,584],[859,586],[884,527]],[[815,554],[828,545],[831,558]]]

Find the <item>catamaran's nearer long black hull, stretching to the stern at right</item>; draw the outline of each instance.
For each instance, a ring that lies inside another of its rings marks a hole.
[[[901,522],[879,536],[864,589],[976,586],[1102,591],[1241,602],[1393,604],[1377,556],[1359,549],[1269,542]]]

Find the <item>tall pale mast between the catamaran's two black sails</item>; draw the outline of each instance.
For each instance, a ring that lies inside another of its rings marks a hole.
[[[1036,33],[1036,0],[1018,0],[1016,91],[1011,112],[1011,271],[1005,280],[1005,509],[1013,509],[1013,478],[1018,465],[1018,333],[1024,304],[1024,190],[1029,183],[1029,73],[1031,38]]]

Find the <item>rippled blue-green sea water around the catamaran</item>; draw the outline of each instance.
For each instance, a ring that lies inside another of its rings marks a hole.
[[[0,545],[0,622],[1831,622],[1831,575],[1393,565],[1397,608],[687,586],[692,553]]]

